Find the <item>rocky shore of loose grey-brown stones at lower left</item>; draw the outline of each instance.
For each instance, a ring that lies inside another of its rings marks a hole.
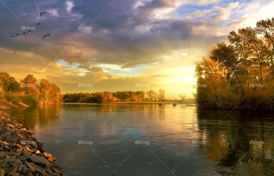
[[[63,176],[55,157],[43,151],[33,132],[5,111],[16,105],[0,102],[0,176]]]

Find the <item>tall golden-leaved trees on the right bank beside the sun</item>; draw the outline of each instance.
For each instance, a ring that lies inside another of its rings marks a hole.
[[[274,109],[274,18],[228,35],[196,62],[196,100],[204,107]]]

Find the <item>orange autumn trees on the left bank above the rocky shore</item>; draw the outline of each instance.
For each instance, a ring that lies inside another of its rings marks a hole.
[[[38,84],[33,75],[27,75],[18,82],[5,72],[0,73],[0,98],[27,105],[59,103],[62,99],[60,88],[48,80]]]

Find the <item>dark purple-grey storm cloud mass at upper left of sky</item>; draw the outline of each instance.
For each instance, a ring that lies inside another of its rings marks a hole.
[[[156,21],[148,18],[155,9],[175,8],[172,1],[148,1],[135,9],[136,1],[130,0],[71,1],[74,5],[71,11],[66,9],[67,1],[59,2],[3,1],[19,19],[0,3],[3,14],[0,17],[0,47],[7,49],[12,45],[18,37],[9,37],[23,33],[22,26],[34,26],[36,30],[22,35],[10,50],[33,52],[49,61],[58,56],[57,60],[62,59],[70,64],[98,65],[112,59],[109,63],[134,67],[161,62],[162,55],[170,55],[174,48],[180,48],[191,36],[190,21]],[[45,10],[50,16],[45,14],[40,17],[39,13]],[[43,24],[32,25],[35,21]],[[136,26],[141,25],[150,27],[150,30],[135,30]],[[78,30],[79,26],[92,27],[92,30]],[[47,33],[57,36],[42,40]]]

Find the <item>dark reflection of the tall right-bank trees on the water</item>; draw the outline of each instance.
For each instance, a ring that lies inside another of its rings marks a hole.
[[[200,137],[211,144],[205,145],[207,158],[218,161],[215,170],[220,175],[274,175],[273,113],[234,111],[231,117],[226,115],[224,111],[207,109],[197,116]]]

